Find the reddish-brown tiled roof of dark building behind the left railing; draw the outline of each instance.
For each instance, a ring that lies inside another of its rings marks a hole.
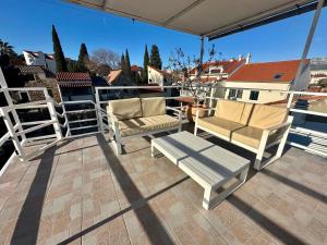
[[[57,81],[62,87],[89,87],[92,79],[88,73],[83,72],[59,72],[57,73]]]

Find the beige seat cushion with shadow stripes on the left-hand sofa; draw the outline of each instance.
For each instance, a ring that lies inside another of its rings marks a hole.
[[[175,127],[178,125],[179,120],[168,114],[119,121],[122,137]]]

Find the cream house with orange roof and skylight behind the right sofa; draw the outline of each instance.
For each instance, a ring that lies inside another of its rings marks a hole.
[[[287,94],[282,91],[305,90],[310,82],[308,60],[295,82],[300,62],[291,60],[245,64],[221,83],[225,98],[268,103],[286,99]]]

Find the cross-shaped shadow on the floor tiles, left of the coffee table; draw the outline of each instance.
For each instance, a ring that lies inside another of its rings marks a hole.
[[[182,180],[173,183],[172,185],[169,185],[162,188],[161,191],[144,198],[137,189],[136,185],[133,183],[133,180],[129,176],[128,172],[122,167],[120,160],[116,157],[116,152],[108,145],[108,142],[105,139],[105,137],[101,134],[97,134],[97,139],[98,145],[100,146],[102,154],[106,157],[106,160],[112,171],[112,174],[117,179],[122,192],[124,193],[124,196],[128,198],[131,206],[69,237],[68,240],[61,242],[60,245],[69,244],[130,210],[133,210],[135,212],[140,223],[143,226],[143,230],[145,231],[152,244],[174,244],[170,235],[167,233],[161,221],[149,207],[148,201],[155,198],[156,196],[167,192],[168,189],[173,188],[178,184],[186,181],[189,177],[183,177]]]

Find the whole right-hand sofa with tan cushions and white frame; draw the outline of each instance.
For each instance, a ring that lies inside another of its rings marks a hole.
[[[280,158],[293,121],[287,108],[219,99],[217,107],[208,110],[215,111],[214,117],[198,118],[197,113],[195,135],[201,128],[255,152],[256,170]],[[265,150],[277,144],[276,155],[262,162]]]

